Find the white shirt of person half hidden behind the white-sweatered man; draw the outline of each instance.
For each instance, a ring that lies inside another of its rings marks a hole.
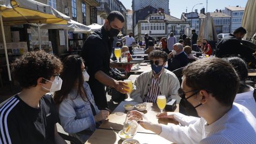
[[[246,107],[248,110],[251,111],[252,115],[256,117],[256,102],[255,99],[253,98],[253,92],[254,89],[250,86],[250,90],[248,92],[236,94],[234,102]]]

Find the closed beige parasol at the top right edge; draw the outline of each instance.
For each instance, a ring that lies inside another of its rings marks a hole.
[[[248,0],[244,9],[244,15],[242,20],[242,27],[247,30],[244,39],[249,42],[256,44],[256,37],[253,37],[256,34],[256,1]]]

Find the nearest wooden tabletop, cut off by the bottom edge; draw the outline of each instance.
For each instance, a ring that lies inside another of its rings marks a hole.
[[[102,130],[97,129],[85,142],[85,144],[98,144],[98,143],[113,143],[113,144],[121,144],[123,140],[119,138],[118,136],[119,131],[114,130]],[[167,144],[172,143],[162,137],[160,137],[157,134],[149,134],[149,133],[138,133],[134,135],[133,139],[138,140],[140,143],[161,143],[161,144]]]

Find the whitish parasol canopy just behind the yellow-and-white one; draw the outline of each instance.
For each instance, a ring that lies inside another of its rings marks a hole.
[[[46,24],[41,29],[67,29],[74,33],[91,33],[91,28],[74,20],[68,21],[68,25]]]

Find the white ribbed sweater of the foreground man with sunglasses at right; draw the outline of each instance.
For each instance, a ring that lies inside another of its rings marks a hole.
[[[190,117],[182,118],[186,122]],[[256,119],[244,106],[234,103],[227,114],[210,125],[204,118],[196,118],[185,126],[162,125],[159,135],[175,143],[256,143]]]

